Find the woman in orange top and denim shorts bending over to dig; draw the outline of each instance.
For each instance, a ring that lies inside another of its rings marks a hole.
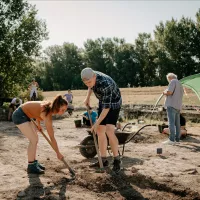
[[[29,140],[28,145],[28,173],[42,174],[45,167],[43,167],[36,160],[36,150],[38,143],[37,128],[31,122],[31,119],[36,119],[38,129],[41,130],[40,121],[44,121],[49,138],[56,151],[57,158],[62,159],[63,155],[60,153],[52,126],[52,115],[62,115],[67,109],[68,102],[62,98],[61,95],[55,97],[52,102],[48,101],[29,101],[18,107],[12,115],[13,122],[19,130]]]

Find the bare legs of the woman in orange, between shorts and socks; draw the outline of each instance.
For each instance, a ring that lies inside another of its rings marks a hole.
[[[36,157],[37,143],[38,143],[38,135],[33,128],[33,124],[31,122],[26,122],[20,125],[17,125],[19,130],[25,135],[25,137],[29,140],[28,145],[28,162],[34,162]]]

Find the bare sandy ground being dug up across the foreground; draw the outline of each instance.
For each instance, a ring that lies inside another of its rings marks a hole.
[[[111,166],[104,173],[88,167],[96,157],[86,159],[80,154],[77,145],[88,133],[86,128],[75,128],[73,116],[54,120],[54,130],[61,152],[76,171],[75,180],[70,179],[68,170],[42,135],[37,154],[46,172],[28,176],[27,139],[12,122],[0,122],[1,200],[200,199],[199,126],[188,127],[189,136],[175,146],[161,144],[167,136],[160,134],[157,127],[144,129],[126,145],[123,170],[116,175]],[[162,155],[156,153],[159,147]],[[111,157],[109,160],[112,163]]]

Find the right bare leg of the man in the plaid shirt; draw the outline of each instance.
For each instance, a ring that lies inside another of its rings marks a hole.
[[[115,135],[115,126],[112,124],[107,124],[106,125],[106,134],[109,138],[109,144],[111,146],[113,156],[117,157],[119,155],[119,153],[118,153],[119,142]]]

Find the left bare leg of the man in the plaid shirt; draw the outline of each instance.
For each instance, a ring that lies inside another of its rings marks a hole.
[[[104,125],[100,125],[97,130],[99,151],[100,151],[101,157],[107,156],[108,142],[107,142],[105,131],[106,131],[106,126]]]

